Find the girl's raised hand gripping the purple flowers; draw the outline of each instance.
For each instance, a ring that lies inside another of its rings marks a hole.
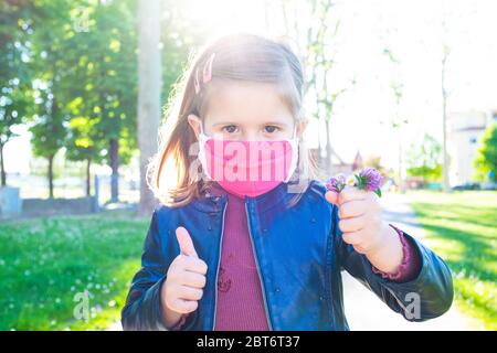
[[[383,222],[378,195],[348,185],[340,193],[328,191],[325,197],[338,206],[343,242],[364,254],[379,270],[394,272],[402,263],[402,243]]]

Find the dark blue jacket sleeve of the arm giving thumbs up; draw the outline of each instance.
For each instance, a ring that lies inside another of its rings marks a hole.
[[[162,320],[160,289],[170,265],[159,233],[158,214],[154,212],[141,255],[141,268],[131,281],[126,304],[121,311],[124,330],[167,331]],[[195,314],[189,315],[181,330],[191,328]]]

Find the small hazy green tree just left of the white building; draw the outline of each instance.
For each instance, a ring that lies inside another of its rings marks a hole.
[[[430,135],[419,145],[412,145],[408,152],[408,174],[424,180],[440,180],[442,176],[442,146]]]

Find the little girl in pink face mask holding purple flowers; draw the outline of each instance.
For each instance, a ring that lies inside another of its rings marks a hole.
[[[194,60],[150,163],[162,205],[125,330],[348,330],[342,269],[408,320],[448,310],[447,266],[376,193],[316,181],[303,85],[282,41],[230,35]]]

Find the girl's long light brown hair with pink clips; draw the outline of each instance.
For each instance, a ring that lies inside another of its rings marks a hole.
[[[202,85],[202,72],[215,53],[212,79]],[[230,81],[272,83],[290,108],[295,121],[306,121],[303,109],[304,69],[297,54],[284,39],[267,39],[253,34],[232,34],[205,45],[191,61],[179,84],[173,87],[159,131],[159,149],[147,169],[148,184],[156,197],[169,206],[182,206],[200,197],[210,182],[197,172],[200,163],[191,148],[198,152],[197,137],[188,122],[194,114],[203,120],[209,98],[215,96],[215,84]],[[195,74],[200,92],[195,94]],[[214,83],[214,85],[212,84]],[[200,167],[201,168],[201,167]],[[191,172],[194,170],[195,172]],[[176,174],[176,175],[175,175]],[[299,139],[297,170],[289,183],[296,199],[307,186],[303,183],[315,175],[315,162]],[[171,180],[176,181],[171,184]],[[165,185],[166,183],[170,185]],[[299,189],[298,189],[299,188]]]

